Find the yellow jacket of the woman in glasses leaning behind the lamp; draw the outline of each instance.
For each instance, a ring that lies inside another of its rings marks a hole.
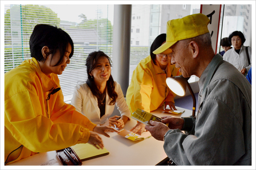
[[[181,73],[171,63],[168,63],[166,72],[167,74],[157,62],[153,63],[150,55],[140,61],[133,71],[126,93],[126,102],[131,113],[138,108],[150,112],[162,106],[164,101],[174,102],[175,94],[168,88],[166,78]]]

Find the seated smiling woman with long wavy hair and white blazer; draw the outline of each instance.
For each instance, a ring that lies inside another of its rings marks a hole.
[[[112,78],[110,58],[102,51],[90,53],[86,59],[86,68],[88,79],[75,87],[71,104],[93,123],[124,127],[130,119],[130,111],[120,84]],[[115,104],[121,117],[110,117]]]

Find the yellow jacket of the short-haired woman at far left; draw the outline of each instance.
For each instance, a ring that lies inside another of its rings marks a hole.
[[[46,104],[49,90],[57,87],[58,75],[46,76],[34,58],[4,74],[5,164],[88,142],[96,125],[66,104],[61,90]]]

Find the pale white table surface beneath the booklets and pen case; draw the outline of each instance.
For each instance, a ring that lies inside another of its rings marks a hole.
[[[182,109],[176,107],[177,109]],[[185,109],[182,114],[172,114],[166,113],[161,110],[162,107],[152,111],[151,113],[159,117],[162,116],[176,116],[176,117],[186,117],[192,115],[192,110]],[[124,129],[130,130],[136,125],[136,121],[131,119],[126,122]],[[148,166],[157,165],[162,160],[166,159],[167,155],[164,152],[164,141],[158,141],[154,137],[150,137],[144,141],[130,141],[117,133],[108,133],[110,138],[100,135],[103,140],[104,147],[110,152],[106,156],[101,156],[91,160],[86,160],[82,162],[82,165],[95,166]],[[17,162],[9,165],[61,165],[55,151],[42,152],[24,158]]]

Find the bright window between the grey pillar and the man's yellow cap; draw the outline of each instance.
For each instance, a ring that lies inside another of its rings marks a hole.
[[[138,63],[150,55],[150,46],[154,39],[159,34],[166,33],[167,21],[199,12],[200,5],[132,5],[132,14],[140,16],[141,20],[140,22],[132,20],[131,23],[132,27],[139,25],[140,33],[133,37],[136,42],[135,45],[130,46],[129,84]]]

